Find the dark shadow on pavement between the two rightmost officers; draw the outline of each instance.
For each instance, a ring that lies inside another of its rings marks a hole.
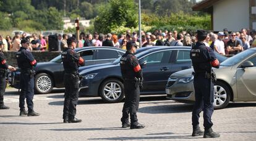
[[[191,104],[174,104],[174,105],[157,105],[151,107],[142,107],[139,108],[140,113],[150,113],[150,114],[158,114],[158,113],[184,113],[191,112],[193,109],[193,105]]]

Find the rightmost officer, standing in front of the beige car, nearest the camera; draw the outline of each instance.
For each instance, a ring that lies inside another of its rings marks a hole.
[[[219,68],[219,61],[213,50],[205,46],[203,41],[207,37],[207,31],[197,30],[197,43],[190,51],[190,58],[194,67],[194,89],[195,104],[192,111],[192,136],[203,135],[204,138],[220,137],[220,134],[213,132],[211,126],[211,115],[213,114],[214,90],[211,70],[212,67]],[[199,114],[203,111],[203,126],[205,132],[200,130]]]

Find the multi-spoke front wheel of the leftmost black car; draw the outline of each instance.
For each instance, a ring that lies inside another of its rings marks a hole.
[[[35,93],[48,94],[53,90],[53,78],[46,73],[39,73],[35,76]]]

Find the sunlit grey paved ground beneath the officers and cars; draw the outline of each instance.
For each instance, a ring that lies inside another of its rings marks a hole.
[[[63,91],[35,95],[38,117],[20,117],[19,95],[8,89],[5,95],[9,110],[0,111],[0,140],[205,140],[190,137],[192,105],[166,100],[164,96],[142,96],[139,121],[145,129],[122,129],[123,103],[103,103],[98,97],[83,97],[77,106],[82,123],[62,123]],[[213,113],[218,139],[256,140],[256,103],[231,103]],[[202,119],[201,119],[202,123]],[[201,124],[202,127],[202,124]]]

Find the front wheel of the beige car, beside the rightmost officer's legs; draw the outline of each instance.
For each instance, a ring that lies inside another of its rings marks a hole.
[[[225,108],[230,101],[231,92],[226,84],[217,81],[214,86],[214,102],[215,109]]]

